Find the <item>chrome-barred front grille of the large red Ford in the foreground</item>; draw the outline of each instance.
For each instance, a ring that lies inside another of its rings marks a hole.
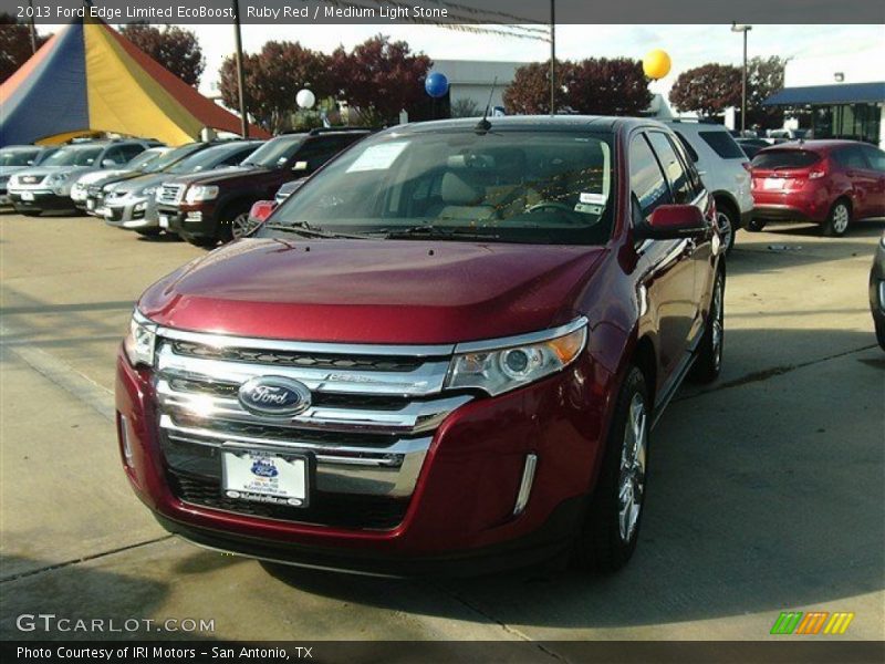
[[[253,517],[389,529],[408,509],[439,424],[471,401],[442,394],[450,346],[321,344],[157,332],[160,445],[181,500]],[[243,383],[302,383],[306,409],[284,418],[242,406]],[[222,448],[284,449],[315,459],[308,508],[228,498]]]

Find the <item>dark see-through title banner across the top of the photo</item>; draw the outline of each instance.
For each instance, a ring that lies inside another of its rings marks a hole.
[[[0,0],[35,23],[878,24],[881,0]],[[555,21],[553,21],[555,17]]]

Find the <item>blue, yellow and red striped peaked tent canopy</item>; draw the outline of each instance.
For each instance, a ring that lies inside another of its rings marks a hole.
[[[64,27],[0,85],[0,146],[91,132],[180,145],[204,127],[239,134],[240,120],[103,22]]]

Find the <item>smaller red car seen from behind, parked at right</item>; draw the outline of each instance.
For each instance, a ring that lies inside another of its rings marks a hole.
[[[855,141],[804,141],[759,152],[750,164],[753,220],[813,221],[827,236],[885,216],[885,153]]]

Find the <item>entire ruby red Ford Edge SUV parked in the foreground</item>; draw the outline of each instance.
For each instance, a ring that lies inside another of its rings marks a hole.
[[[268,560],[615,570],[653,423],[719,373],[722,252],[655,122],[387,129],[144,293],[126,474],[171,532]]]

